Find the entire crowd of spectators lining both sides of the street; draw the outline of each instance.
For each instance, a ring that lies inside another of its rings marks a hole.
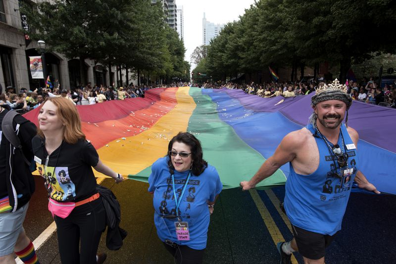
[[[47,97],[62,96],[73,101],[76,105],[90,105],[102,103],[110,100],[124,100],[125,98],[145,97],[148,89],[152,88],[168,88],[178,86],[196,86],[201,88],[229,88],[241,89],[248,94],[254,94],[264,98],[283,96],[295,97],[307,95],[318,87],[318,82],[268,82],[256,84],[251,82],[249,84],[237,83],[205,83],[198,84],[169,84],[169,85],[156,85],[147,86],[134,84],[125,87],[103,87],[92,86],[88,83],[85,87],[78,87],[72,89],[61,88],[60,85],[56,88],[37,88],[33,91],[28,91],[26,88],[21,88],[19,94],[15,93],[12,87],[6,88],[6,93],[0,94],[0,104],[8,104],[11,109],[18,110],[24,109],[29,111],[38,107]],[[395,85],[385,85],[381,88],[377,83],[372,80],[364,81],[362,83],[349,82],[347,84],[348,92],[351,94],[353,100],[359,100],[370,104],[390,106],[396,108],[396,90]]]

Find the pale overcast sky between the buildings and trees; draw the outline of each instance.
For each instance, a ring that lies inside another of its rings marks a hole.
[[[202,44],[203,13],[211,23],[227,24],[239,20],[253,3],[254,0],[176,0],[178,8],[183,5],[185,59],[190,62],[191,53]],[[194,68],[192,65],[191,70]]]

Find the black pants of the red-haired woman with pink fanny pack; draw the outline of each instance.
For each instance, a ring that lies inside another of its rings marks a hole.
[[[106,212],[100,197],[75,207],[65,219],[55,216],[55,223],[62,264],[97,263],[99,240],[106,227]]]

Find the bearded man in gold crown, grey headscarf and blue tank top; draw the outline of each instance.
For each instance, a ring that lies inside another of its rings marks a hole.
[[[294,238],[277,244],[283,264],[291,263],[295,251],[305,264],[325,263],[325,248],[341,230],[353,180],[360,188],[380,193],[358,169],[359,135],[347,126],[351,104],[347,87],[337,79],[329,86],[319,85],[311,98],[308,125],[287,134],[257,173],[241,182],[245,191],[254,188],[290,163],[284,209]]]

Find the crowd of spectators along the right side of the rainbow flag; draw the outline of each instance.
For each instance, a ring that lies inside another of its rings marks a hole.
[[[249,84],[236,84],[236,83],[215,83],[215,84],[203,84],[193,85],[201,88],[229,88],[229,89],[241,89],[248,94],[255,94],[260,97],[269,98],[275,96],[283,97],[295,97],[307,95],[318,87],[321,81],[318,82],[283,82],[275,83],[268,82],[262,84],[255,84],[251,82]],[[348,82],[348,92],[352,96],[353,100],[359,100],[370,104],[390,106],[396,108],[396,90],[395,84],[385,85],[381,88],[377,83],[370,79],[369,81]]]

